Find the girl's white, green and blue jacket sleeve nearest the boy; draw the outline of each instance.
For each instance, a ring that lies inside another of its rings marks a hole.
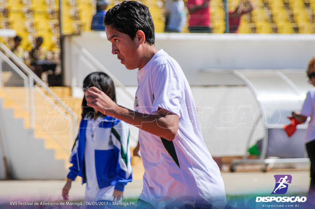
[[[129,125],[123,121],[112,128],[112,140],[117,156],[117,177],[115,189],[124,191],[128,182],[132,181],[132,167],[129,147]]]

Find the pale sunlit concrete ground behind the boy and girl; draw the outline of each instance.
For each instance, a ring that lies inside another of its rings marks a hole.
[[[222,172],[226,195],[270,194],[275,186],[273,175],[291,175],[292,183],[287,194],[306,193],[309,186],[309,171],[278,170],[270,172]],[[60,201],[65,180],[9,180],[0,181],[0,204],[9,201]],[[124,198],[137,198],[142,191],[142,180],[135,179],[125,187]],[[85,185],[79,178],[70,190],[71,200],[84,200]]]

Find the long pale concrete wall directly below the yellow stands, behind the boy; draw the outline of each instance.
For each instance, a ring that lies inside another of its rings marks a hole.
[[[315,56],[315,36],[312,34],[160,33],[156,34],[155,45],[175,58],[190,85],[197,86],[231,85],[230,80],[217,79],[202,72],[203,69],[306,69],[307,62]],[[85,76],[89,72],[77,59],[81,47],[125,86],[137,85],[136,70],[126,70],[117,55],[111,53],[111,43],[105,32],[66,37],[66,85],[71,85],[72,75]],[[78,77],[78,85],[82,79]]]

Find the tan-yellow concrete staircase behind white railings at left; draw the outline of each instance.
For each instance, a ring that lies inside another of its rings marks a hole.
[[[63,101],[70,101],[68,106],[75,111],[76,115],[79,116],[82,99],[74,99],[70,96],[70,88],[66,87],[51,87],[54,93],[57,94]],[[26,129],[31,128],[30,112],[27,111],[23,106],[28,103],[25,94],[28,89],[24,87],[0,87],[0,98],[3,99],[3,108],[12,109],[14,118],[23,120],[23,126]],[[36,139],[44,140],[44,148],[47,150],[54,150],[54,158],[56,160],[65,161],[65,168],[69,167],[69,154],[74,142],[74,138],[69,140],[69,128],[72,124],[68,121],[56,122],[58,120],[57,113],[54,113],[54,106],[42,97],[40,93],[34,91],[34,110],[35,110],[35,126],[34,126],[34,137]],[[62,117],[61,117],[62,118]],[[53,121],[48,130],[47,127],[49,121]],[[77,124],[76,127],[77,129]]]

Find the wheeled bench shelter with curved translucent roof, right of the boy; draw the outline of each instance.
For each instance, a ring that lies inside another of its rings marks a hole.
[[[263,164],[262,171],[266,172],[266,166],[269,163],[309,162],[304,146],[304,135],[307,125],[301,124],[297,127],[299,132],[294,134],[295,140],[293,141],[291,138],[289,139],[290,141],[288,140],[283,129],[284,125],[289,123],[287,116],[291,115],[293,110],[301,110],[306,92],[311,88],[310,84],[307,83],[308,78],[305,70],[204,69],[202,72],[216,75],[223,74],[229,79],[229,83],[225,85],[239,85],[241,80],[243,85],[247,86],[253,93],[260,108],[261,115],[257,117],[255,124],[262,120],[265,126],[265,136],[261,141],[261,154],[258,159],[249,159],[248,149],[246,149],[243,159],[234,159],[232,161],[231,172],[236,170],[238,164]],[[276,135],[275,137],[275,134],[271,134],[272,131],[281,132],[282,135]],[[252,128],[247,141],[247,148],[249,148],[254,132],[255,128]],[[293,143],[293,145],[290,145],[291,148],[289,148],[287,153],[280,156],[276,156],[277,153],[274,156],[268,155],[268,143],[271,143],[272,140],[275,140],[276,143],[279,140],[283,140],[283,144]],[[294,143],[297,143],[297,145]],[[299,153],[295,153],[295,149],[300,149],[297,151]],[[290,157],[292,154],[295,156]]]

